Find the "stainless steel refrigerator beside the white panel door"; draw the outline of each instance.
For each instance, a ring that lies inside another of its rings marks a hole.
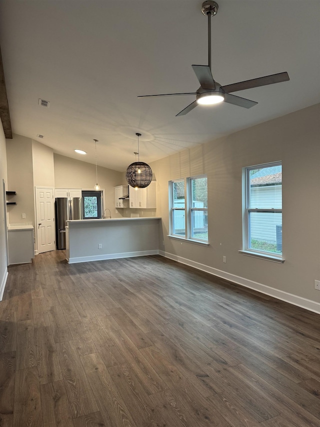
[[[55,199],[56,248],[65,249],[65,226],[70,219],[82,219],[81,197]]]

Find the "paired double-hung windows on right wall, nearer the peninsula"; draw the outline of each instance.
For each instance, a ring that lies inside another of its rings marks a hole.
[[[208,241],[207,177],[170,181],[170,234],[187,240]]]

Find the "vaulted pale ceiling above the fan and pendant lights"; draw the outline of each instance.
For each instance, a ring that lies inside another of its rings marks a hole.
[[[1,0],[0,46],[12,131],[55,153],[124,171],[320,102],[320,1],[217,0],[212,74],[221,85],[287,71],[289,82],[175,117],[207,65],[201,0]],[[50,102],[49,109],[38,99]],[[44,135],[43,139],[36,137]],[[87,152],[74,153],[74,148]]]

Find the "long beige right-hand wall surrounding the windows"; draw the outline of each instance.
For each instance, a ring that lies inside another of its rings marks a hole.
[[[240,283],[274,288],[283,297],[287,293],[320,303],[320,292],[314,289],[314,279],[320,280],[319,117],[319,105],[311,106],[151,163],[157,177],[156,216],[162,217],[163,253]],[[283,264],[238,253],[242,168],[279,160]],[[208,247],[167,237],[168,181],[201,174],[208,177]]]

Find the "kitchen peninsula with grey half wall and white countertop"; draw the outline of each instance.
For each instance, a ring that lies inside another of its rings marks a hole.
[[[69,264],[159,253],[160,217],[66,221]]]

